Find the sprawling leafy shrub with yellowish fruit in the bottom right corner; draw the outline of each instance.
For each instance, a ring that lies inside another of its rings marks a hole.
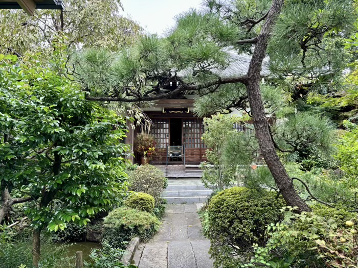
[[[268,227],[269,239],[263,247],[255,248],[255,257],[248,266],[257,267],[254,263],[289,261],[287,267],[290,268],[348,267],[326,265],[325,261],[340,260],[343,263],[347,260],[345,257],[352,254],[353,237],[344,223],[357,214],[323,205],[312,208],[312,212],[296,214],[292,213],[292,207],[287,207],[290,212],[286,221]],[[345,239],[340,240],[341,237]],[[319,241],[323,241],[322,248],[318,247],[321,246]]]

